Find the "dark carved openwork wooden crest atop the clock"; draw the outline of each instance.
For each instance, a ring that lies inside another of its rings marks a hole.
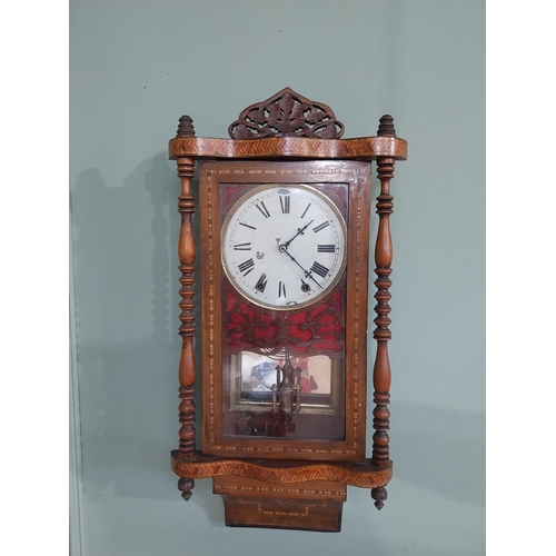
[[[312,102],[287,87],[246,108],[228,132],[232,139],[288,136],[339,139],[344,135],[344,125],[329,107]]]

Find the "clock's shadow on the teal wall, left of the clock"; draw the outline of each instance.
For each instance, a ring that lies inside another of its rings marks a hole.
[[[170,496],[179,180],[161,152],[118,186],[88,169],[71,193],[83,488],[91,498],[107,488],[160,497],[158,476],[172,483]]]

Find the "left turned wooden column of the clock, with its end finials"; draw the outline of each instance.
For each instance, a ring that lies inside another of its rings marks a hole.
[[[179,120],[178,137],[195,137],[192,120],[189,116],[182,116]],[[181,181],[181,195],[178,197],[178,210],[181,215],[181,225],[178,241],[179,279],[181,288],[179,295],[181,300],[179,307],[181,321],[179,335],[181,336],[181,356],[179,360],[179,459],[191,461],[197,457],[196,451],[196,430],[195,430],[195,380],[196,366],[193,353],[195,339],[195,256],[196,245],[192,225],[192,215],[195,212],[195,199],[191,195],[191,179],[195,173],[195,159],[190,157],[178,157],[178,177]],[[195,481],[191,478],[181,477],[178,481],[178,488],[185,500],[191,497],[191,489]]]

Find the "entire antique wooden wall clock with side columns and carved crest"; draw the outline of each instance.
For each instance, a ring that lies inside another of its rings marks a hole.
[[[329,107],[284,89],[245,109],[229,127],[231,139],[196,137],[183,116],[169,142],[181,181],[182,338],[181,428],[171,463],[186,500],[195,479],[212,477],[229,526],[338,532],[347,485],[369,488],[378,509],[386,499],[389,183],[407,143],[390,116],[380,118],[376,137],[340,139],[342,132]],[[380,195],[375,433],[367,458],[373,161]],[[197,257],[201,450],[193,426]]]

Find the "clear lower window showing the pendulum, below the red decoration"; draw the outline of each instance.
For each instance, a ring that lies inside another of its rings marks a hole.
[[[344,358],[230,354],[225,435],[344,438]]]

